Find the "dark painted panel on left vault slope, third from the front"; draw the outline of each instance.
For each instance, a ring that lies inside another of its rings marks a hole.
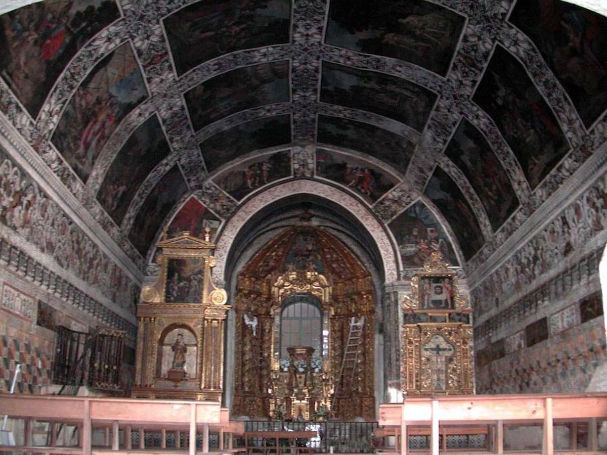
[[[155,115],[141,124],[124,143],[97,193],[97,200],[118,226],[141,183],[170,152]]]

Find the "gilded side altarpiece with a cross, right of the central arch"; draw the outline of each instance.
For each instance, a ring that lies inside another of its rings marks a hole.
[[[470,301],[438,252],[412,278],[402,302],[401,383],[405,395],[474,390]]]

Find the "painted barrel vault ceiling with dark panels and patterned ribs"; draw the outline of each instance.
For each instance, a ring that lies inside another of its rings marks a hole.
[[[0,29],[4,123],[142,271],[183,212],[293,178],[393,230],[429,210],[474,271],[607,155],[607,18],[557,0],[47,0]]]

